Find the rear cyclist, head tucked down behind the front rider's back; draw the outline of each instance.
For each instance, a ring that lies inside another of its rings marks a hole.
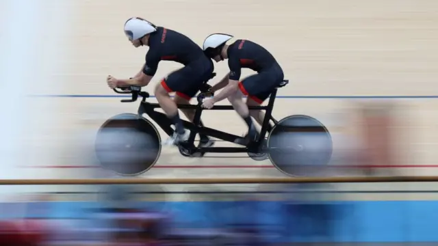
[[[248,105],[261,105],[283,82],[284,74],[276,59],[262,46],[249,40],[236,40],[227,45],[226,42],[231,38],[233,36],[228,34],[214,33],[204,40],[205,54],[216,62],[228,59],[230,72],[211,88],[212,92],[222,88],[224,90],[205,100],[203,107],[211,109],[214,103],[228,98],[235,111],[248,124],[248,137],[253,140],[257,137],[257,131],[250,116],[262,124],[265,114],[261,110],[249,111]],[[257,74],[239,81],[242,68],[250,68]],[[246,104],[243,95],[248,96]]]

